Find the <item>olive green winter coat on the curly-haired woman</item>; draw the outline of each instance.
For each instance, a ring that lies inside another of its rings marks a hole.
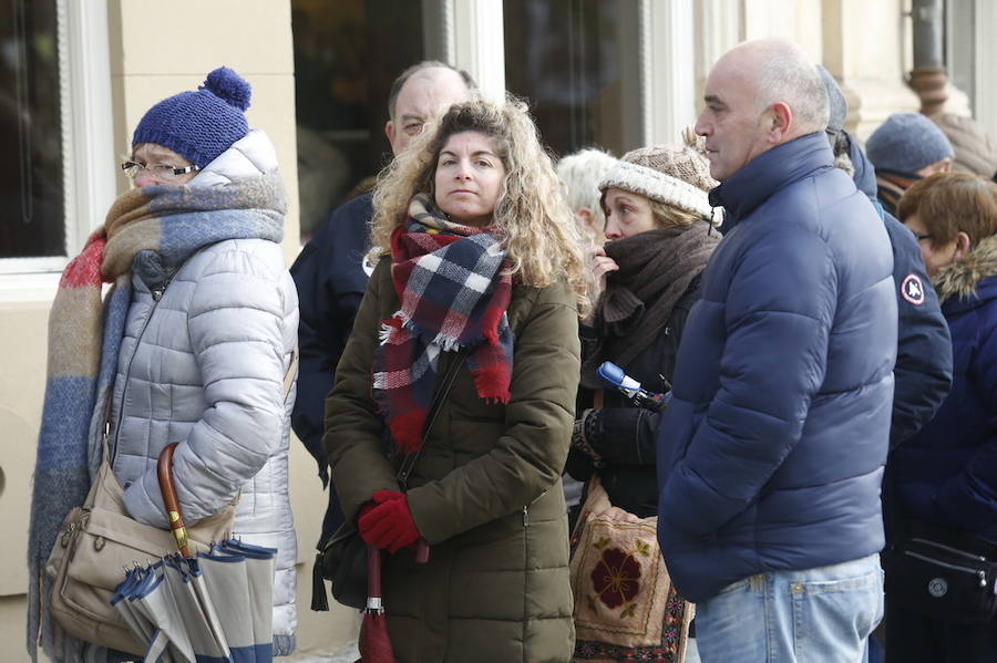
[[[323,443],[347,519],[376,490],[398,490],[386,425],[371,396],[382,320],[399,308],[381,260],[326,402]],[[384,607],[402,663],[568,661],[574,646],[568,532],[561,473],[579,376],[571,288],[516,286],[511,398],[477,396],[466,364],[455,373],[409,478],[409,506],[430,543],[384,553]],[[438,376],[456,353],[441,355]]]

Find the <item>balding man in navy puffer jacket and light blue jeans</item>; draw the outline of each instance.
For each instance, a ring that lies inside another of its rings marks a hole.
[[[661,425],[658,538],[709,661],[859,661],[882,618],[880,484],[897,310],[890,239],[833,167],[805,52],[718,61],[697,122],[733,219]],[[774,657],[773,657],[774,656]]]

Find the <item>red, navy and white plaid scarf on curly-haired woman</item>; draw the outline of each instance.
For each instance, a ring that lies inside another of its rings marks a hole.
[[[440,353],[467,358],[477,395],[508,403],[512,330],[505,311],[512,277],[506,252],[486,230],[442,218],[424,195],[391,235],[391,277],[401,308],[381,324],[373,366],[374,398],[398,448],[422,446]]]

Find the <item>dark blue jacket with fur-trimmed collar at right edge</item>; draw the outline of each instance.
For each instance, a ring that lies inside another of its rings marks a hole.
[[[997,237],[935,286],[952,330],[952,392],[890,463],[906,518],[997,541]]]

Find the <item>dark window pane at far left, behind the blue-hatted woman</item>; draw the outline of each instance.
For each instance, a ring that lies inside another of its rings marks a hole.
[[[65,255],[55,0],[0,3],[0,258]]]

